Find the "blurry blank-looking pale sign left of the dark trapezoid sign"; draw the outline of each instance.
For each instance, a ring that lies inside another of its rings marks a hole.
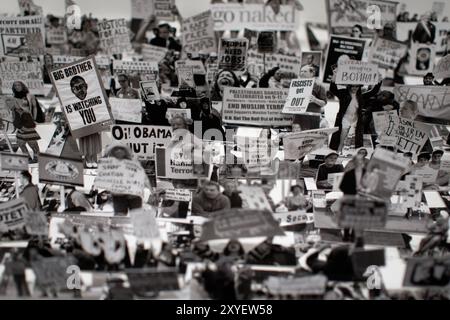
[[[154,209],[134,209],[130,211],[134,235],[139,240],[151,240],[160,237]]]

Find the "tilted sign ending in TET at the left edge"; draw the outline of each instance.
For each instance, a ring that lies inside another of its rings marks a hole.
[[[10,200],[0,204],[0,225],[6,230],[21,229],[25,225],[28,207],[23,199]]]

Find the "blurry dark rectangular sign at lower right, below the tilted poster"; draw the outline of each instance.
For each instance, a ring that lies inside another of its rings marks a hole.
[[[339,204],[338,224],[358,230],[384,228],[387,204],[384,201],[344,196]]]

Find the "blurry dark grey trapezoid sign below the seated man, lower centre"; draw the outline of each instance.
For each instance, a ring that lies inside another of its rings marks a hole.
[[[232,209],[205,222],[200,241],[282,235],[284,232],[269,211]]]

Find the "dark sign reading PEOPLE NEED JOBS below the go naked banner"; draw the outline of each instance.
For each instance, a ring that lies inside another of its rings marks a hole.
[[[220,39],[219,69],[243,72],[247,66],[248,39]]]

